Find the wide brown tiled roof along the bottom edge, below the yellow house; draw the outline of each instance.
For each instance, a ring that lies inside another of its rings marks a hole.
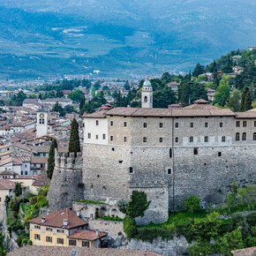
[[[75,256],[158,256],[162,254],[130,249],[113,249],[113,248],[88,248],[88,247],[71,247],[71,246],[24,246],[17,250],[8,252],[8,256],[70,256],[76,252]]]

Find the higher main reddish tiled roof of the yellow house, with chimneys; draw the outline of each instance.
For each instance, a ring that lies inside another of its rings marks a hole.
[[[45,217],[45,222],[41,223],[41,218]],[[64,226],[64,219],[68,220],[68,225]],[[64,209],[57,211],[49,215],[42,215],[40,217],[29,220],[28,222],[34,224],[40,224],[41,226],[49,226],[55,228],[62,228],[65,230],[70,230],[75,227],[80,227],[87,225],[88,223],[79,218],[71,209]]]

